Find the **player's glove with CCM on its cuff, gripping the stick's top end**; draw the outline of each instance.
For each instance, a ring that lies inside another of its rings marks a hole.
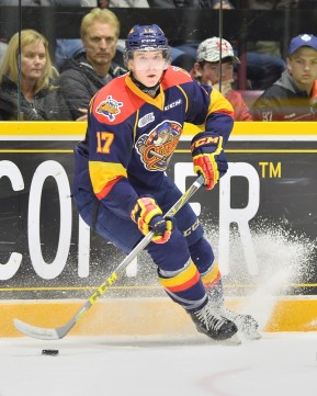
[[[202,174],[206,189],[212,190],[228,170],[228,162],[223,150],[223,136],[200,133],[192,139],[191,151],[194,172]]]

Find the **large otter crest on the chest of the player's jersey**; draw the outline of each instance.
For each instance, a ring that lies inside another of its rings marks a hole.
[[[181,137],[182,127],[174,121],[165,121],[136,142],[136,150],[149,171],[165,171]]]

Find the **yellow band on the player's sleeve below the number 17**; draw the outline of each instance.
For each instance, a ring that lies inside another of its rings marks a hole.
[[[89,161],[89,174],[95,195],[113,180],[127,177],[126,169],[121,163],[101,161]]]

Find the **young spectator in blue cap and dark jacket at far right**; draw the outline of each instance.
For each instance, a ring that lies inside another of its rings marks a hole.
[[[316,121],[314,84],[317,79],[317,37],[292,38],[287,70],[253,104],[257,121]]]

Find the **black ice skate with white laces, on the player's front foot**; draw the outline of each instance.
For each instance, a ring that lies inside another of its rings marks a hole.
[[[222,317],[208,302],[203,308],[189,313],[197,331],[216,341],[230,339],[237,331],[237,326],[229,319]]]

